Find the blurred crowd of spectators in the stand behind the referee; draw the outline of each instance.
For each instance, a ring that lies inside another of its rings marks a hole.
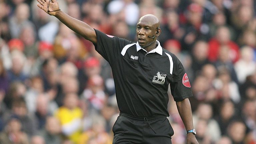
[[[106,34],[136,41],[145,14],[183,63],[200,144],[256,144],[254,0],[59,0]],[[0,0],[0,144],[111,144],[119,115],[111,68],[91,42],[39,9]],[[173,144],[186,132],[169,92]]]

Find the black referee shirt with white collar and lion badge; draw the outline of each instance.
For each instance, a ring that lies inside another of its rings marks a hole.
[[[95,49],[112,68],[120,112],[137,117],[169,116],[169,84],[175,101],[192,96],[183,65],[158,41],[157,48],[147,53],[138,43],[95,32]]]

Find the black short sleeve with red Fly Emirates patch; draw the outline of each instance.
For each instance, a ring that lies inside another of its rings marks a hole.
[[[191,85],[188,79],[188,75],[185,72],[185,69],[180,60],[174,56],[173,62],[173,80],[170,83],[171,93],[175,101],[182,101],[193,96]]]

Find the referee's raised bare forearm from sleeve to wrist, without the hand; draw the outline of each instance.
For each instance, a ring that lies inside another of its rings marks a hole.
[[[93,43],[97,43],[96,33],[94,29],[87,23],[72,18],[71,16],[62,12],[61,10],[56,13],[55,17],[58,18],[63,24],[65,24],[71,30],[81,35],[85,39]]]

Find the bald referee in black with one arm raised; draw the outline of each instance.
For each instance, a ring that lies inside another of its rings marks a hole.
[[[38,7],[58,18],[70,29],[91,41],[110,64],[120,115],[114,126],[113,144],[171,144],[174,131],[167,94],[170,84],[179,114],[187,130],[187,143],[195,138],[188,76],[178,58],[157,41],[160,24],[154,15],[138,21],[137,42],[106,35],[62,12],[56,0],[37,0]]]

